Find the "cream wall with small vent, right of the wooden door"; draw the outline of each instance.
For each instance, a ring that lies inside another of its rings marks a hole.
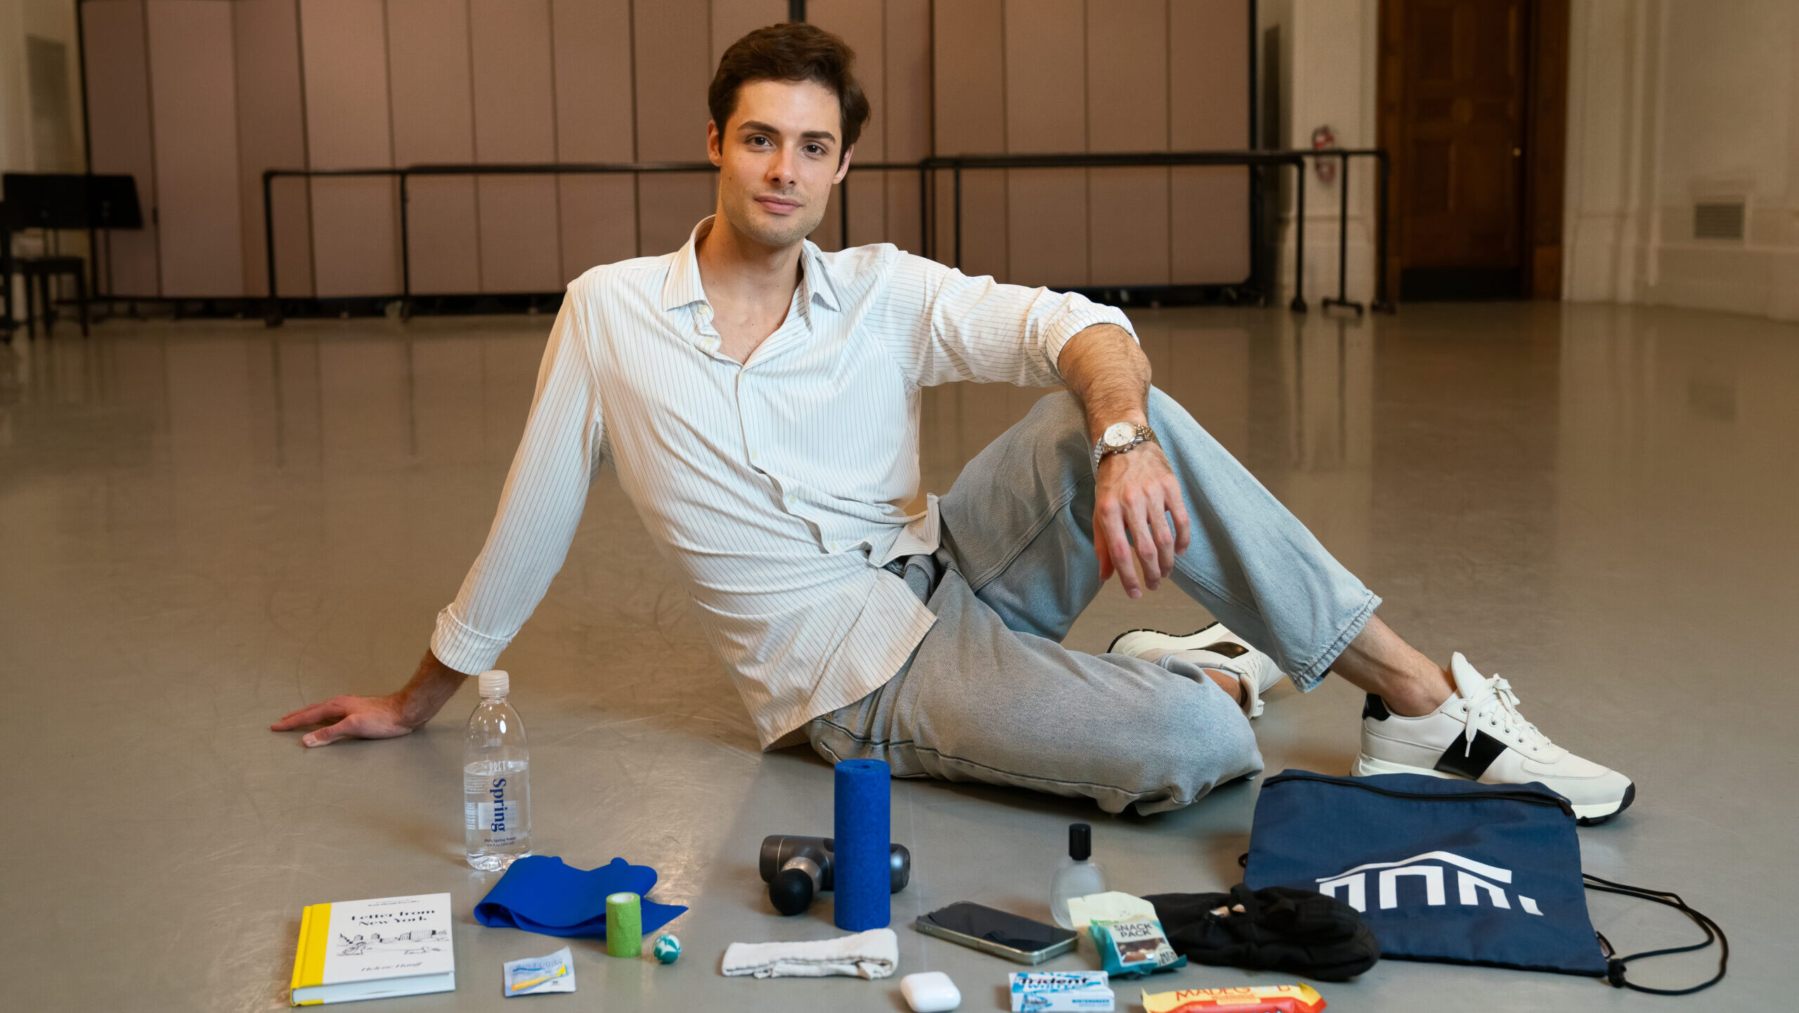
[[[1567,297],[1799,318],[1799,7],[1574,0],[1569,43]]]

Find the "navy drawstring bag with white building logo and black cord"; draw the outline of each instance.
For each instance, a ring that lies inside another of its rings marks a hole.
[[[1723,977],[1729,941],[1677,894],[1592,889],[1666,903],[1705,941],[1617,957],[1587,916],[1574,808],[1544,784],[1479,784],[1423,774],[1329,777],[1286,770],[1263,783],[1243,882],[1301,887],[1362,912],[1383,957],[1603,977],[1684,995]],[[1718,975],[1689,990],[1624,981],[1626,961],[1723,945]]]

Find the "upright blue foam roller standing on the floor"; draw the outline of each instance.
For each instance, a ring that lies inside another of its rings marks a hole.
[[[831,846],[831,921],[846,932],[892,921],[889,835],[892,770],[880,759],[837,765],[837,838]]]

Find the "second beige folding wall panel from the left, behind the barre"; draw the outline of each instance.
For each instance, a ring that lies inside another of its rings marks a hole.
[[[230,4],[155,0],[146,25],[162,295],[243,295]]]

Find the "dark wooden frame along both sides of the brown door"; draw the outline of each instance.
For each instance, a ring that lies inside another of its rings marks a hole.
[[[1405,158],[1405,13],[1412,0],[1380,0],[1376,137],[1392,153],[1387,200],[1387,291],[1400,291],[1405,229],[1394,194],[1410,185]],[[1518,295],[1562,299],[1562,198],[1567,160],[1569,0],[1524,0],[1524,180],[1518,202]]]

